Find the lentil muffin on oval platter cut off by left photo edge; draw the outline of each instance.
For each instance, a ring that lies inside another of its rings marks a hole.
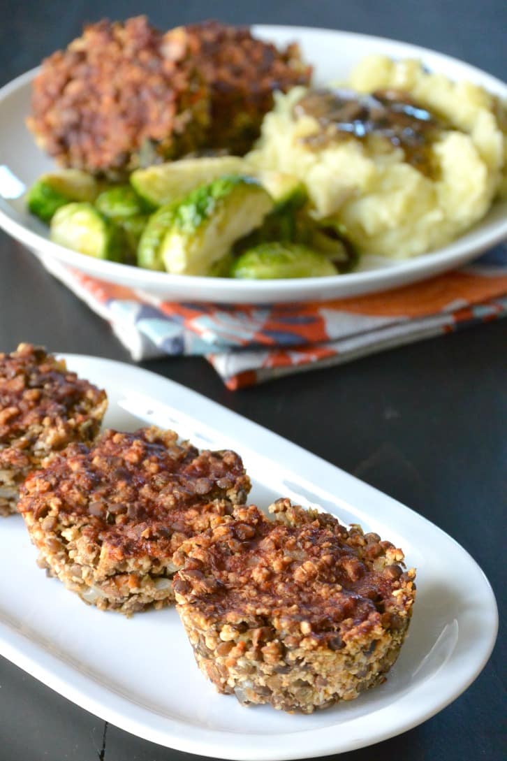
[[[106,406],[105,391],[44,349],[0,354],[0,515],[16,512],[21,483],[46,457],[93,441]]]

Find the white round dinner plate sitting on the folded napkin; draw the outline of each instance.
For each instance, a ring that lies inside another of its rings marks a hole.
[[[276,43],[298,40],[306,59],[315,65],[317,83],[345,78],[354,63],[366,54],[376,52],[394,58],[419,58],[426,66],[449,78],[477,82],[507,98],[507,85],[498,79],[456,59],[407,43],[306,27],[258,26],[254,30],[259,36]],[[366,272],[262,282],[169,275],[74,253],[47,240],[45,226],[27,214],[24,203],[17,197],[18,189],[22,193],[25,186],[30,186],[36,177],[52,167],[52,162],[36,148],[24,127],[30,109],[33,74],[28,72],[0,90],[0,226],[42,259],[57,259],[98,278],[142,288],[152,295],[176,301],[267,304],[344,298],[407,285],[470,261],[507,237],[507,202],[502,202],[497,203],[471,231],[434,253],[401,262],[379,260],[375,269]],[[17,185],[5,169],[2,175],[2,165],[21,184]],[[3,199],[2,195],[5,196]]]

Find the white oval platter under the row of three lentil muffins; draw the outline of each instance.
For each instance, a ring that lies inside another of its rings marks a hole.
[[[486,664],[496,603],[480,568],[454,540],[399,502],[330,463],[170,380],[119,362],[68,356],[109,394],[106,424],[139,423],[119,407],[150,397],[147,419],[195,443],[233,447],[252,476],[252,501],[287,495],[318,504],[401,546],[417,567],[410,633],[385,684],[309,716],[242,708],[195,665],[176,610],[125,619],[87,607],[36,567],[21,517],[0,526],[0,653],[66,698],[147,740],[223,759],[299,759],[385,740],[454,700]],[[169,416],[160,403],[170,400]],[[142,405],[142,402],[141,402]],[[147,407],[138,407],[139,410]],[[205,421],[202,423],[201,421]]]

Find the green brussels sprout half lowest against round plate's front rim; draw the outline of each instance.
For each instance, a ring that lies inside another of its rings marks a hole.
[[[242,253],[230,270],[233,278],[271,280],[337,275],[334,264],[318,251],[299,244],[263,243]]]

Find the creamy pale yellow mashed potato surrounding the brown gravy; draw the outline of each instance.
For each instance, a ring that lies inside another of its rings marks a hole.
[[[293,115],[304,88],[277,97],[248,158],[256,167],[303,180],[315,218],[344,225],[360,252],[403,259],[438,248],[505,193],[507,136],[499,103],[483,88],[429,74],[414,60],[384,56],[363,59],[347,87],[363,94],[404,92],[444,120],[428,149],[431,173],[374,136],[312,145],[309,137],[322,132],[321,125],[314,116]]]

